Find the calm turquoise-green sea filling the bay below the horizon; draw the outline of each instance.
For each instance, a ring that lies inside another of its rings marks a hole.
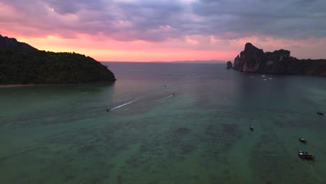
[[[0,89],[0,183],[326,183],[326,78],[109,68],[115,84]]]

